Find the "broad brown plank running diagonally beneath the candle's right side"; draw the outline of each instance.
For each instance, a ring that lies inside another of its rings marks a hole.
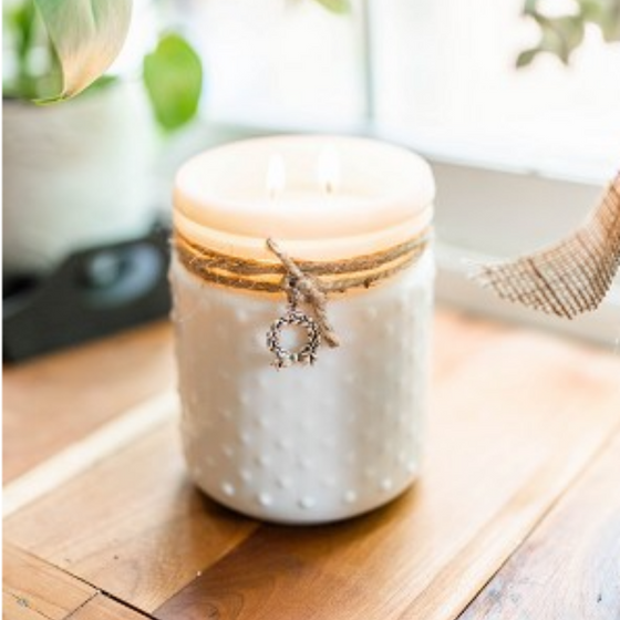
[[[455,618],[620,422],[616,364],[530,338],[505,332],[435,386],[412,493],[355,521],[264,527],[155,614]]]

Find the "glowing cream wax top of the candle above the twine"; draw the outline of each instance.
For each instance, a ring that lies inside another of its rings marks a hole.
[[[328,152],[341,169],[330,194],[321,192],[319,178]],[[267,186],[273,157],[287,177],[277,195]],[[326,245],[329,254],[348,256],[401,242],[427,227],[434,195],[428,164],[401,146],[281,135],[229,143],[187,161],[175,180],[174,219],[185,236],[216,249],[234,246],[256,257],[265,239],[275,237],[307,258],[317,258],[313,250]]]

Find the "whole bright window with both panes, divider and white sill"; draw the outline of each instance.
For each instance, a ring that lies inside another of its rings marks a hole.
[[[208,124],[211,135],[226,125],[217,140],[353,131],[411,146],[437,177],[440,297],[609,343],[619,290],[568,323],[466,278],[463,258],[503,259],[568,232],[620,165],[620,44],[592,27],[570,66],[542,54],[517,70],[537,37],[523,4],[354,0],[339,18],[309,0],[196,1]]]

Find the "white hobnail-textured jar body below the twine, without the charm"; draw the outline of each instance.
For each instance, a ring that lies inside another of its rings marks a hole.
[[[208,165],[192,166],[208,188]],[[432,186],[425,165],[413,172]],[[209,227],[185,208],[190,173],[177,179],[175,225],[204,244],[213,230],[203,235]],[[411,208],[420,232],[432,206]],[[420,471],[433,279],[428,245],[378,286],[333,296],[341,347],[321,349],[313,366],[277,371],[265,338],[286,300],[209,283],[173,257],[182,436],[195,483],[240,513],[290,524],[352,517],[403,493]]]

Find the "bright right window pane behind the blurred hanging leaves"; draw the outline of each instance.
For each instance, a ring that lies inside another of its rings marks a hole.
[[[517,70],[519,52],[537,40],[523,6],[374,2],[380,127],[494,165],[610,177],[620,157],[620,44],[588,27],[570,66],[540,54]]]

